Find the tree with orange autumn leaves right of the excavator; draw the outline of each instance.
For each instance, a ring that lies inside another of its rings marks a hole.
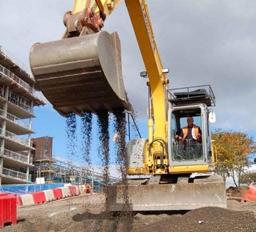
[[[256,152],[254,140],[246,132],[222,129],[216,129],[212,139],[217,151],[216,172],[223,176],[224,181],[232,176],[235,186],[240,186],[241,175],[251,165],[249,156]]]

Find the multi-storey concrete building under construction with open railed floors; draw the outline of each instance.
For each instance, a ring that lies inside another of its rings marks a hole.
[[[0,184],[29,183],[36,81],[23,63],[0,46]]]

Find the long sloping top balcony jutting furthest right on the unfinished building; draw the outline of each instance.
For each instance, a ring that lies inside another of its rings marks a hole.
[[[33,100],[36,105],[45,104],[36,89],[2,65],[0,65],[0,77],[0,83],[10,85],[10,89],[12,89],[13,92],[26,96],[29,100]]]

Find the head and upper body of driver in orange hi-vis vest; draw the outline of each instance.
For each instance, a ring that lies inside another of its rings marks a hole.
[[[201,142],[201,129],[199,126],[194,124],[194,118],[187,118],[187,126],[181,129],[181,134],[175,136],[176,139],[185,141],[191,140],[194,142]]]

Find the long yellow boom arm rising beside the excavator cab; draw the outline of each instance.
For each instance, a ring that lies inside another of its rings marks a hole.
[[[165,74],[162,73],[162,63],[152,31],[151,20],[145,0],[126,0],[126,6],[137,37],[138,46],[148,72],[149,85],[152,91],[154,107],[154,138],[167,141]]]

